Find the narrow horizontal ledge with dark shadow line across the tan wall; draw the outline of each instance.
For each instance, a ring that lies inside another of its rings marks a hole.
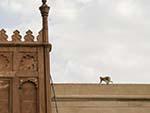
[[[57,101],[150,101],[150,95],[92,95],[57,96]],[[54,101],[54,97],[52,98]]]

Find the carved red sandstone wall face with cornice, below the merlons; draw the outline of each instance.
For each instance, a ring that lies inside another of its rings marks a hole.
[[[50,97],[45,96],[50,96],[46,92],[50,79],[45,78],[49,77],[49,70],[45,74],[43,48],[51,46],[42,42],[0,42],[0,45],[3,45],[0,47],[0,113],[48,113],[45,103],[50,102]],[[11,84],[4,84],[5,79]]]

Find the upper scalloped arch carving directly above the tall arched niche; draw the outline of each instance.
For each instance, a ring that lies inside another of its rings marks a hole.
[[[37,59],[36,56],[26,54],[21,58],[19,64],[20,71],[37,71]]]

